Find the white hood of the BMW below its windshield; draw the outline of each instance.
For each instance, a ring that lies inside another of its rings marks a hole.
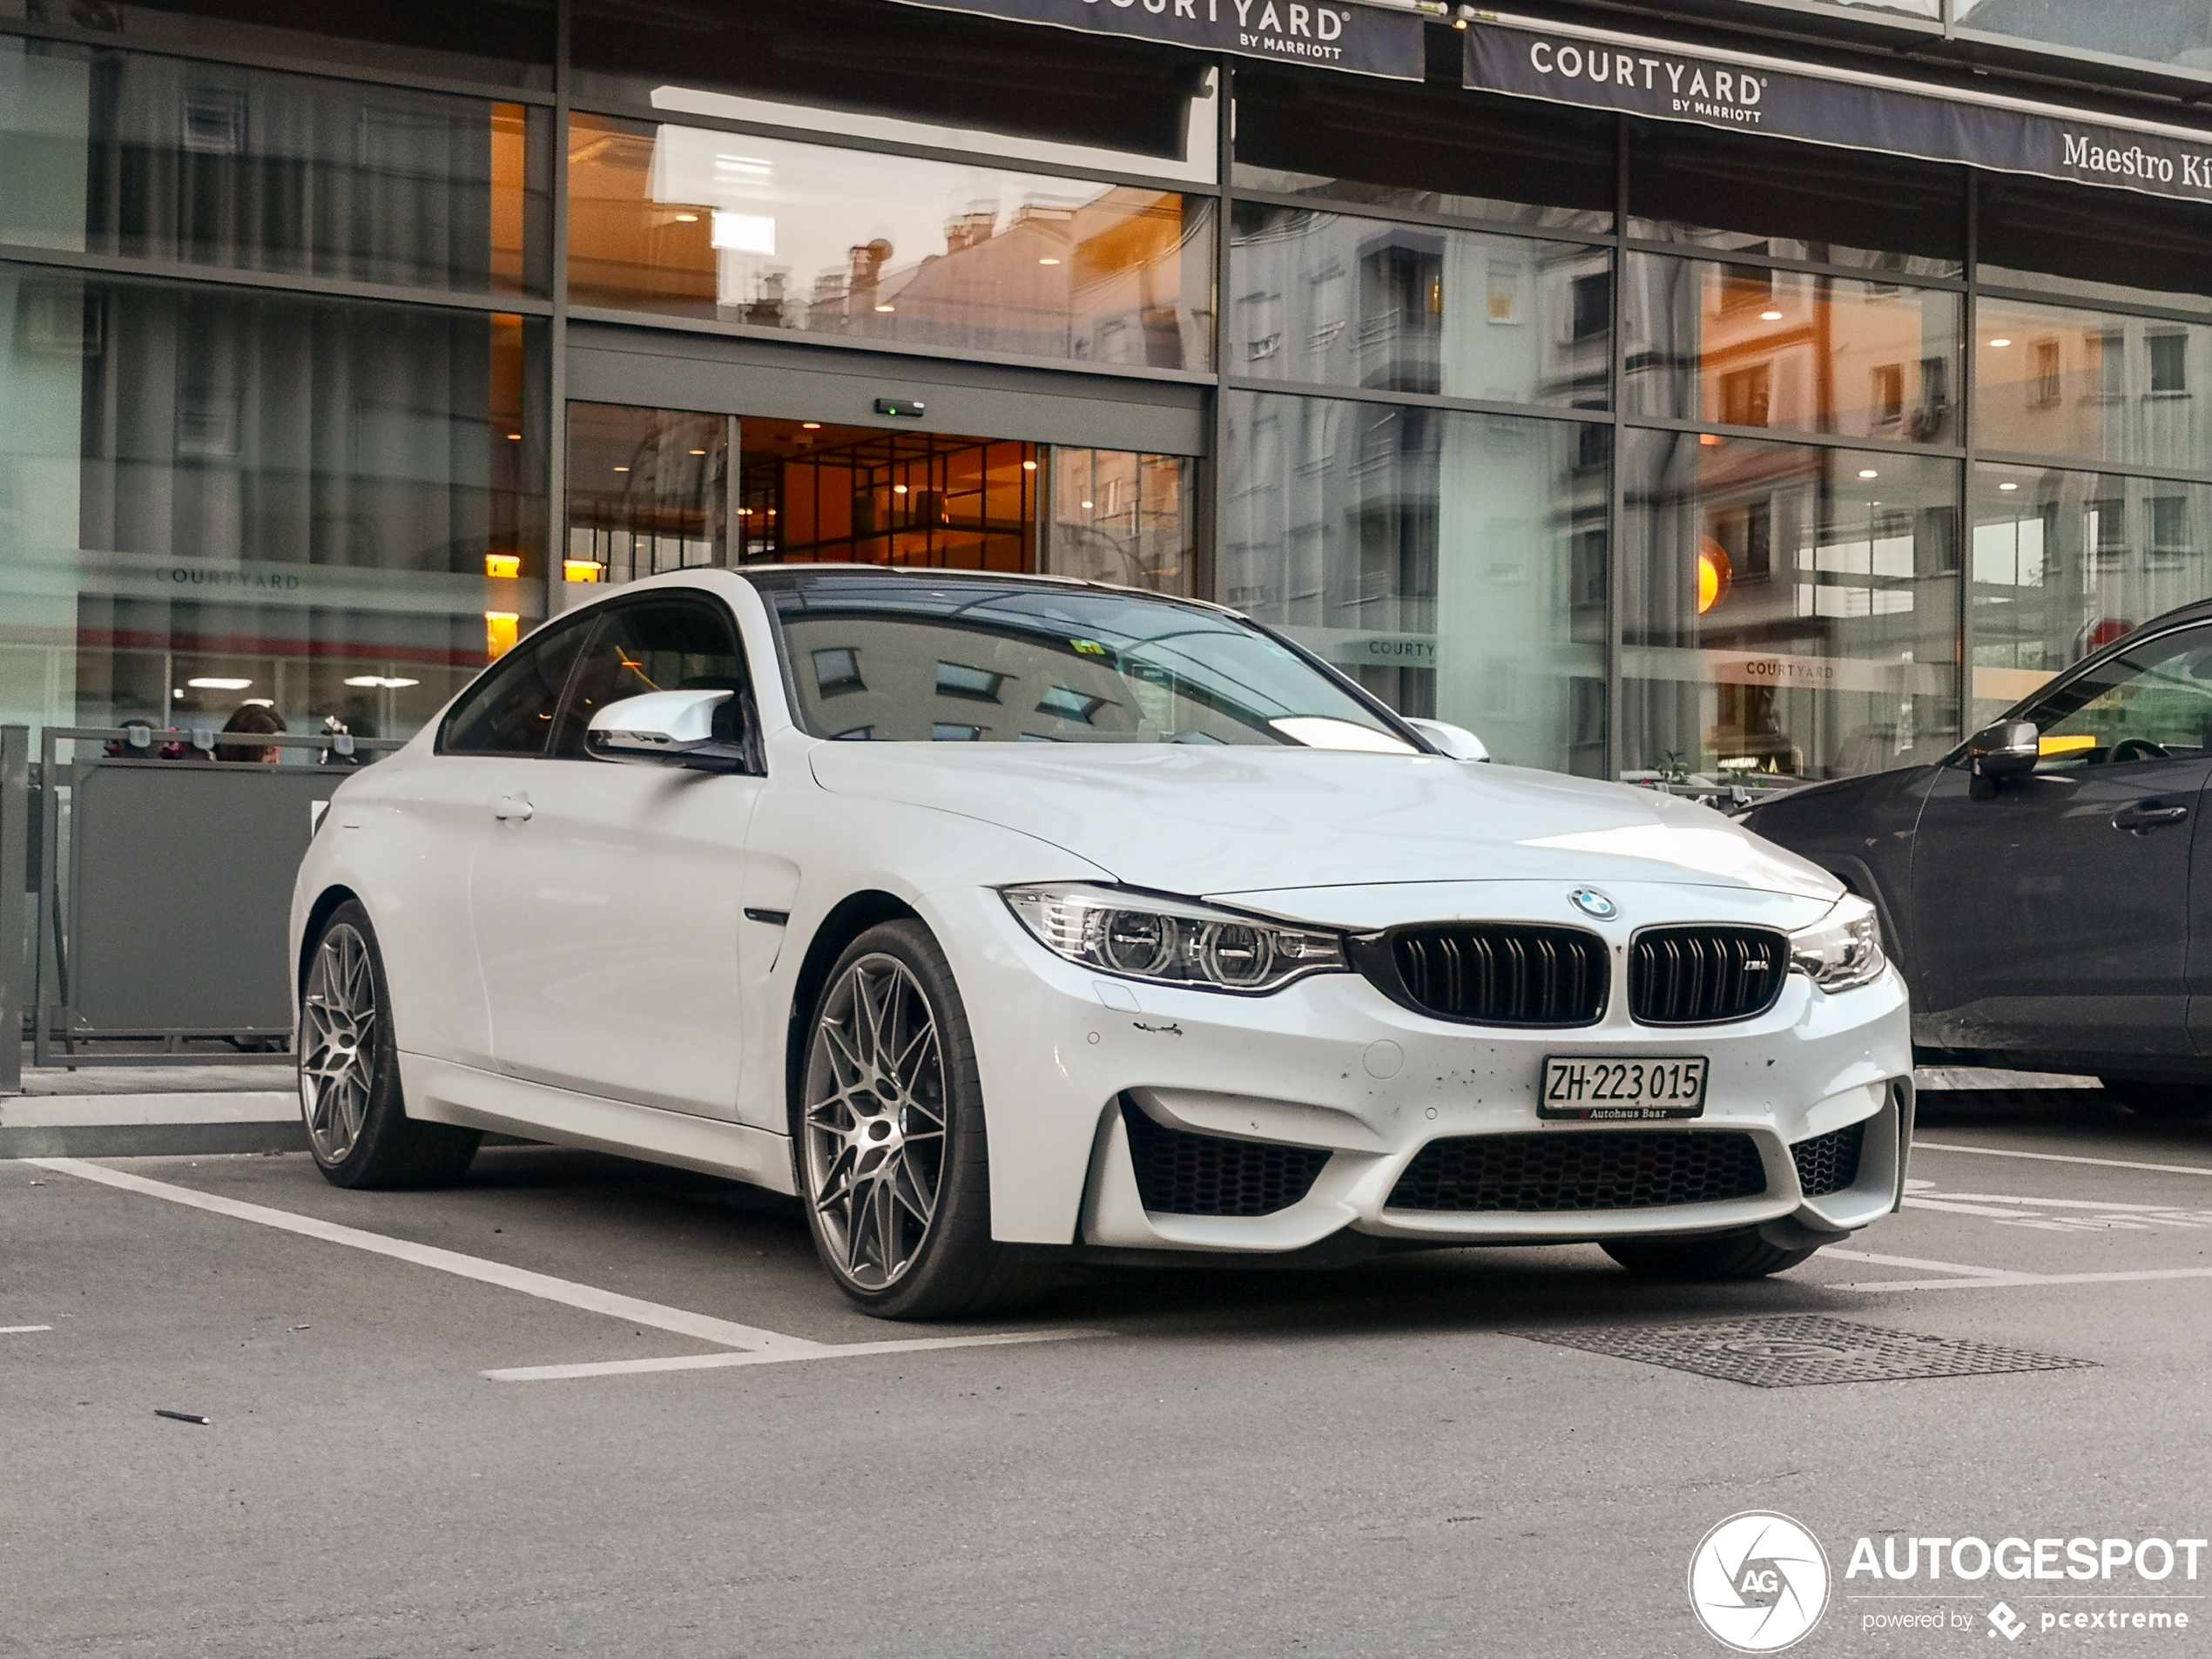
[[[1431,754],[827,741],[810,761],[834,794],[1004,825],[1172,894],[1440,880],[1843,891],[1692,801]]]

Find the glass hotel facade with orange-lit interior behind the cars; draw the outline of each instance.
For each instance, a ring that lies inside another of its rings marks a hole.
[[[2212,77],[2203,7],[1692,11]],[[1444,24],[1391,82],[898,0],[307,22],[0,4],[0,721],[403,737],[597,584],[863,560],[1816,779],[2212,593],[2212,201],[1464,91]]]

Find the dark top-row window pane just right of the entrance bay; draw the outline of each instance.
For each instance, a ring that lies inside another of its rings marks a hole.
[[[1613,230],[1613,117],[1358,75],[1237,69],[1237,184],[1531,230]]]

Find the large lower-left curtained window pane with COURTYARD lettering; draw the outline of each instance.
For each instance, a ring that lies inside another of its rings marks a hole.
[[[542,325],[27,265],[0,321],[0,719],[407,734],[542,615]]]

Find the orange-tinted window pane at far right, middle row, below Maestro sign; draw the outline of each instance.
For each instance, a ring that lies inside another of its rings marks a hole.
[[[2212,325],[1984,299],[1975,442],[1991,451],[2205,471]]]

